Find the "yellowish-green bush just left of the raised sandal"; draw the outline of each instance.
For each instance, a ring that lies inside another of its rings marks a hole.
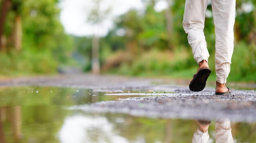
[[[187,56],[188,53],[184,48],[176,50],[174,53],[157,49],[150,50],[134,59],[131,65],[123,63],[119,69],[113,71],[133,76],[168,75],[184,69],[184,67],[190,67],[189,61],[183,60]]]

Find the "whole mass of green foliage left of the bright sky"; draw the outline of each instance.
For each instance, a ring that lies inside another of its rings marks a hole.
[[[12,0],[4,24],[7,50],[0,53],[0,74],[4,76],[53,74],[59,65],[74,60],[73,39],[65,35],[59,21],[60,9],[57,0]],[[13,33],[16,17],[22,23],[22,49],[15,50]]]

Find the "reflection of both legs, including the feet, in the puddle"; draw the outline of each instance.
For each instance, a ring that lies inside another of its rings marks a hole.
[[[208,143],[210,137],[208,128],[211,121],[197,120],[197,122],[199,127],[193,134],[192,143]],[[215,132],[216,143],[234,143],[229,119],[216,119]]]

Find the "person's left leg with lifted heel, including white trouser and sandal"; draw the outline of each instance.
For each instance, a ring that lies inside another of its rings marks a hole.
[[[186,0],[183,27],[188,34],[195,61],[199,68],[189,84],[191,91],[202,91],[211,74],[208,65],[209,52],[204,37],[204,20],[208,0]]]

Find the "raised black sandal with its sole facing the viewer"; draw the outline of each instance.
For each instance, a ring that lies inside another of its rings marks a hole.
[[[189,84],[189,89],[191,91],[202,91],[206,85],[206,81],[211,74],[211,69],[202,68],[193,76]]]

